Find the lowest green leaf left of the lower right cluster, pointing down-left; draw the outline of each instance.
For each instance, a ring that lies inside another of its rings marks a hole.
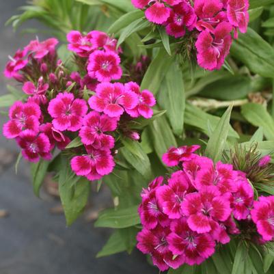
[[[126,251],[126,245],[124,243],[124,238],[119,230],[116,230],[111,236],[107,243],[102,247],[102,250],[98,252],[96,258],[101,258],[113,254]]]

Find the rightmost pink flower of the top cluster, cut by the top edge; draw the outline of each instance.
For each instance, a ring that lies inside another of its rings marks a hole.
[[[249,22],[248,0],[228,0],[228,20],[234,27],[238,27],[241,32],[247,32]]]

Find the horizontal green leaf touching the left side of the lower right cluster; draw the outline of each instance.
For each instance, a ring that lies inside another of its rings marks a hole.
[[[96,228],[129,228],[140,223],[137,206],[123,209],[107,209],[100,213],[94,224]]]

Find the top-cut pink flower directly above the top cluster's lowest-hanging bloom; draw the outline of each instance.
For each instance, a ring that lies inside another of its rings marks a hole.
[[[222,8],[223,3],[219,0],[195,0],[194,10],[199,18],[196,25],[197,30],[214,31],[219,23],[228,21],[226,13],[221,11]]]

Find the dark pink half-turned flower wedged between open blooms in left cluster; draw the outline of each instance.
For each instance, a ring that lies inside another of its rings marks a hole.
[[[64,150],[70,143],[70,138],[55,129],[51,123],[41,124],[40,131],[49,138],[51,150],[55,147],[55,144],[59,150]]]

